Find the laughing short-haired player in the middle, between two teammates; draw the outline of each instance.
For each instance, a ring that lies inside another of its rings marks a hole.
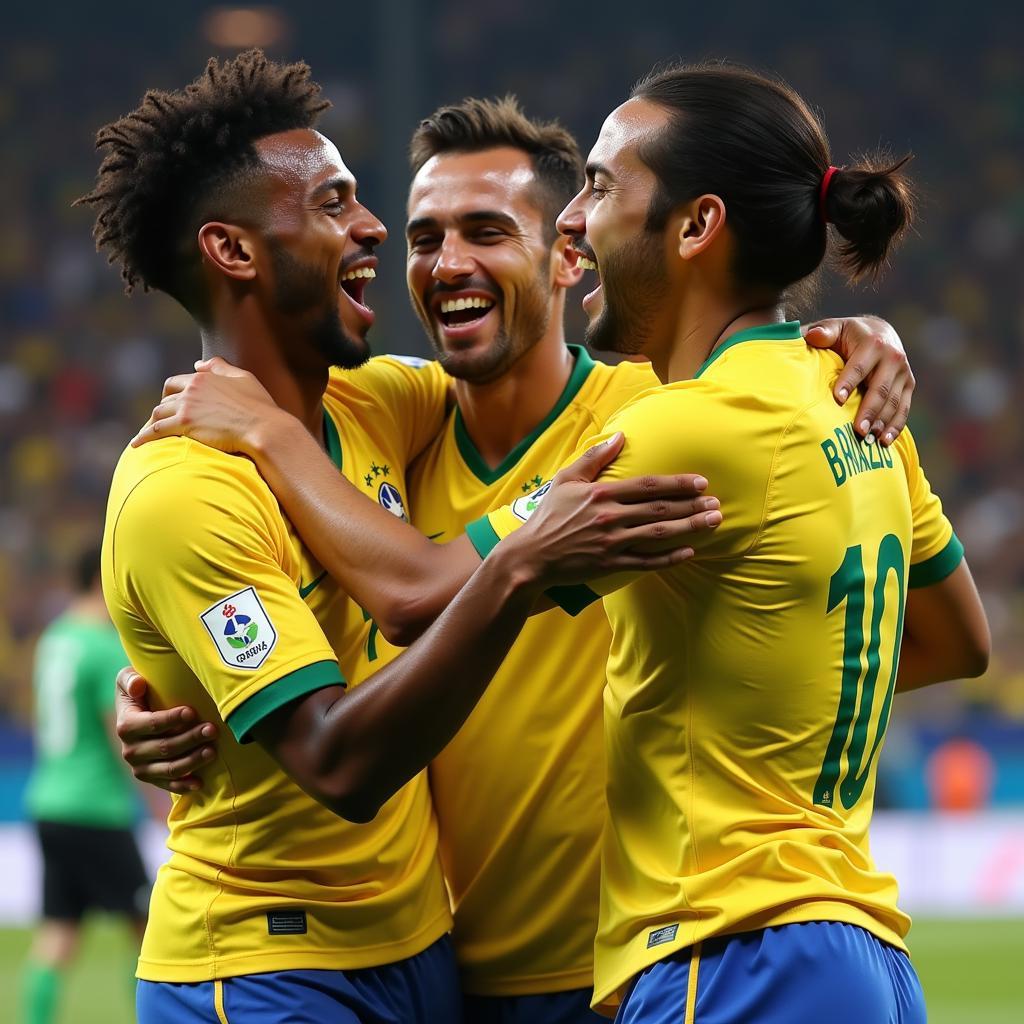
[[[579,186],[583,162],[564,130],[529,122],[510,100],[467,100],[423,122],[413,164],[410,290],[440,365],[456,378],[457,408],[417,463],[411,505],[424,532],[447,540],[488,509],[536,490],[547,467],[656,378],[645,365],[595,364],[565,345],[565,291],[582,271],[554,220]],[[421,374],[425,386],[436,376],[430,368]],[[230,423],[214,436],[218,411],[209,411],[204,385],[217,383],[200,375],[176,391],[155,421],[160,434],[184,429],[249,452],[311,541],[339,536],[342,515],[322,522],[290,489],[314,479],[304,467],[289,482],[301,454],[268,459],[247,431],[229,432]],[[212,396],[229,398],[224,389]],[[237,414],[233,431],[265,420],[258,402],[240,403]],[[331,507],[325,494],[313,512]],[[432,763],[467,1020],[594,1019],[609,639],[596,606],[575,621],[557,611],[537,616]],[[378,639],[367,651],[385,649]],[[133,751],[136,764],[140,753]],[[160,757],[166,763],[166,753]],[[200,762],[189,770],[193,764]]]

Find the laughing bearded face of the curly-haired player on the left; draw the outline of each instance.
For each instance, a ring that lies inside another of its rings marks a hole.
[[[271,314],[284,322],[284,336],[305,338],[313,359],[357,367],[370,355],[374,311],[365,293],[387,231],[355,198],[352,173],[318,132],[268,135],[256,150],[271,171],[264,232]],[[302,353],[297,346],[289,354]]]

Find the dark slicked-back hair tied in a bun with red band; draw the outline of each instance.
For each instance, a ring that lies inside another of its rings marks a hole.
[[[658,179],[650,227],[664,227],[680,204],[714,194],[726,207],[742,284],[781,291],[816,269],[827,248],[820,195],[833,161],[821,123],[794,89],[716,63],[655,70],[631,96],[671,115],[641,148]],[[877,273],[910,225],[907,160],[868,156],[831,177],[824,214],[844,240],[836,262],[851,280]]]

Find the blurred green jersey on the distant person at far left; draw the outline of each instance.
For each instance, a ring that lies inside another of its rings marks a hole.
[[[70,612],[44,630],[33,673],[33,818],[110,828],[134,823],[134,783],[110,733],[114,679],[127,664],[112,625]]]

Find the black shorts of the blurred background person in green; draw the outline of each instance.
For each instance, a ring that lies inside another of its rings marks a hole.
[[[43,850],[43,916],[79,921],[86,910],[144,918],[150,880],[128,828],[37,821]]]

